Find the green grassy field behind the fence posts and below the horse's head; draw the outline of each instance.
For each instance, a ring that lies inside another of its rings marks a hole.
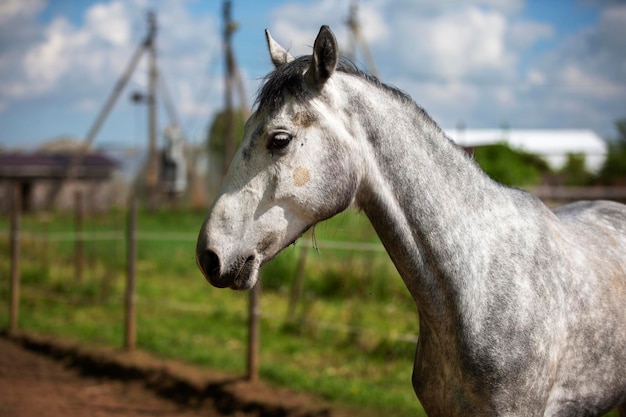
[[[248,293],[213,288],[196,269],[195,238],[203,217],[192,211],[140,212],[137,345],[244,374]],[[125,222],[123,212],[84,219],[86,265],[77,282],[73,218],[22,218],[21,328],[123,345]],[[8,220],[0,220],[5,254],[8,230]],[[358,245],[333,249],[342,246],[337,242]],[[308,251],[303,288],[290,305],[302,251]],[[0,257],[2,277],[9,276],[8,259]],[[417,312],[363,216],[351,212],[318,225],[314,236],[285,250],[262,274],[261,379],[381,414],[423,415],[410,382]],[[9,321],[8,291],[3,278],[0,327]]]

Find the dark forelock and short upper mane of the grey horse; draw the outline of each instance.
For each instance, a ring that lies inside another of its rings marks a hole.
[[[292,62],[281,65],[270,72],[264,78],[255,106],[267,109],[270,115],[274,115],[285,104],[285,93],[293,97],[297,103],[304,104],[311,100],[314,91],[306,85],[304,74],[311,64],[311,56],[304,55],[294,59]],[[347,57],[340,57],[337,63],[337,71],[354,75],[374,86],[389,91],[402,101],[413,103],[411,97],[398,88],[382,83],[375,76],[359,69],[357,65]]]

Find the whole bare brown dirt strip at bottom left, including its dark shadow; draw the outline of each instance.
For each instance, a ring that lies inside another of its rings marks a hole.
[[[0,337],[0,415],[341,416],[318,398],[146,352],[30,333]],[[42,355],[44,354],[44,355]]]

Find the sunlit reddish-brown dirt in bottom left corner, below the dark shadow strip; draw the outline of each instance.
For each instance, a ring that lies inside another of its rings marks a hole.
[[[0,337],[0,416],[217,417],[158,397],[139,381],[81,376],[61,362]]]

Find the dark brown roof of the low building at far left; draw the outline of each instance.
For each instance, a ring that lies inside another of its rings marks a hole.
[[[73,153],[0,154],[0,179],[62,179],[72,163]],[[79,179],[107,179],[117,163],[99,153],[83,155],[78,165]]]

